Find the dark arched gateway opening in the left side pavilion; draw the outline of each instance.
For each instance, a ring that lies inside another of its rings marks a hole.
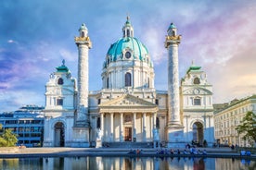
[[[55,147],[64,147],[65,143],[65,130],[62,122],[58,122],[54,126],[54,145]]]

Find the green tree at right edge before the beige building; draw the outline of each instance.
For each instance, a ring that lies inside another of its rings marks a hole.
[[[256,115],[248,112],[237,126],[238,134],[243,134],[243,140],[253,140],[256,143]]]

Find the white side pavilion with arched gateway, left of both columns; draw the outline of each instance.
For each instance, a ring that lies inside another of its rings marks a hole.
[[[77,90],[64,62],[50,75],[45,89],[44,146],[70,146]]]

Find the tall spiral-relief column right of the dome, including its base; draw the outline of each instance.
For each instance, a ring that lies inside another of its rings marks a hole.
[[[168,124],[166,127],[166,140],[168,147],[183,147],[184,131],[180,117],[179,96],[179,60],[178,46],[181,35],[171,23],[167,30],[165,48],[168,50]]]

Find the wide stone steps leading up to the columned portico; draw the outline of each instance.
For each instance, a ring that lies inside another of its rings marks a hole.
[[[132,142],[132,141],[123,141],[123,142],[103,142],[103,148],[123,148],[123,149],[130,149],[130,148],[153,148],[153,142]]]

